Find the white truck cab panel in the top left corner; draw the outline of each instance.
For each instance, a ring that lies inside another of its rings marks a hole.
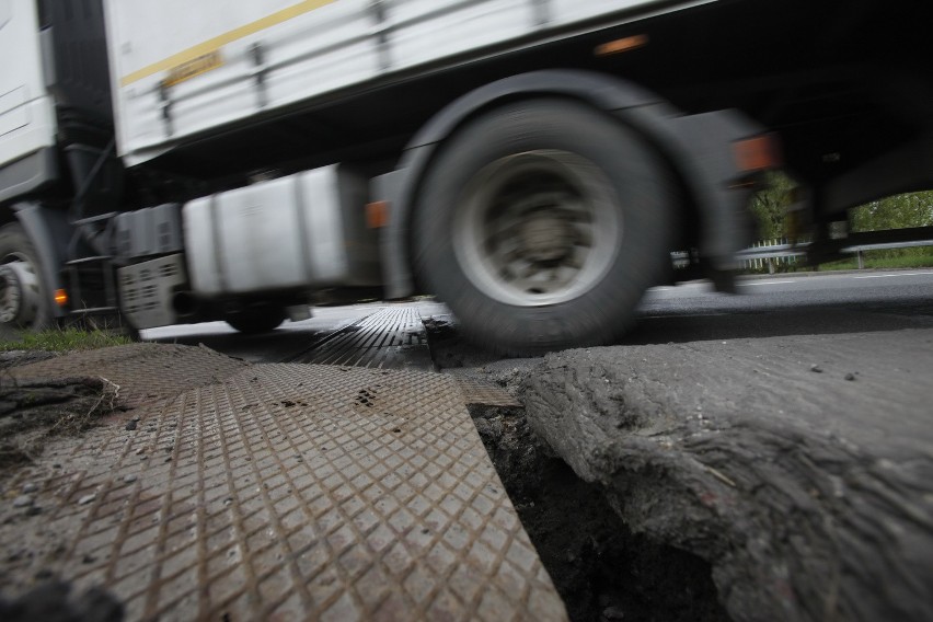
[[[55,145],[34,0],[0,0],[0,166]]]

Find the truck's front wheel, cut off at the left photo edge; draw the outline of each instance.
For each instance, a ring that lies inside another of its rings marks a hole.
[[[5,224],[0,228],[0,325],[41,331],[53,323],[38,253],[19,222]]]

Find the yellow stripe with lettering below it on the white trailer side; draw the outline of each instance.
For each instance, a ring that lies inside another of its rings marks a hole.
[[[224,45],[232,43],[234,41],[241,39],[243,37],[255,34],[260,31],[264,31],[266,28],[270,28],[273,26],[277,26],[283,22],[287,22],[292,18],[297,18],[299,15],[303,15],[304,13],[309,13],[321,7],[325,7],[327,4],[332,4],[336,2],[336,0],[304,0],[303,2],[299,2],[298,4],[292,4],[286,9],[280,11],[276,11],[275,13],[270,13],[265,18],[261,18],[254,22],[250,22],[249,24],[244,24],[238,28],[233,28],[232,31],[228,31],[221,35],[218,35],[214,38],[209,38],[206,42],[199,43],[195,46],[192,46],[185,50],[182,50],[177,54],[173,54],[168,58],[163,58],[152,65],[148,65],[142,69],[137,69],[136,71],[131,71],[120,78],[120,85],[126,87],[127,84],[133,84],[143,78],[148,78],[153,73],[158,73],[159,71],[172,71],[184,73],[184,68],[189,64],[197,65],[199,61],[203,61],[205,58],[210,58],[211,55],[217,54],[218,50]],[[218,54],[219,58],[219,54]],[[203,73],[204,71],[209,71],[219,67],[219,65],[215,65],[211,67],[204,68],[198,73]],[[187,74],[183,78],[183,80],[187,80],[188,78],[193,78],[198,73]],[[171,80],[171,76],[166,78],[166,81]],[[181,80],[176,80],[172,83],[177,83]]]

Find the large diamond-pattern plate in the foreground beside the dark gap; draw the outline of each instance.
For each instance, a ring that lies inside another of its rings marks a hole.
[[[136,413],[41,499],[130,620],[566,619],[450,378],[256,365]]]

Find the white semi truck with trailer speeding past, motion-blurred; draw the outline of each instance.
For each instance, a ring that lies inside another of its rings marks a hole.
[[[0,0],[0,321],[435,293],[502,352],[730,285],[761,173],[811,251],[933,187],[921,0]]]

